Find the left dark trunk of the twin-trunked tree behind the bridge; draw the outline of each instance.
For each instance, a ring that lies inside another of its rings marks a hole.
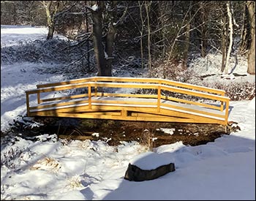
[[[109,76],[106,72],[106,60],[104,47],[102,44],[102,10],[104,8],[104,1],[99,1],[98,9],[91,11],[93,20],[93,41],[94,41],[94,54],[98,68],[98,76]]]

